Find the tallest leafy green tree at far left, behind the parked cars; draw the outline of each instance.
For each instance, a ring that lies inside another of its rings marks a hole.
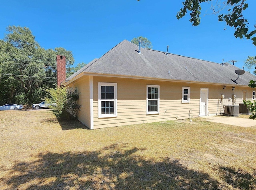
[[[3,99],[8,102],[15,101],[16,94],[23,94],[25,103],[34,95],[44,80],[43,63],[35,62],[40,54],[38,43],[27,27],[9,26],[9,33],[1,40],[1,52],[5,54],[1,61],[1,85],[7,90]],[[20,99],[20,98],[19,98]]]

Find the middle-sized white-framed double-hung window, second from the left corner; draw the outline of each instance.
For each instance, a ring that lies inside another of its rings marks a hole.
[[[147,85],[146,114],[159,114],[159,92],[159,85]]]

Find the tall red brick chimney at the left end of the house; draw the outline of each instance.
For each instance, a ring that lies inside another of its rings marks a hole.
[[[66,57],[57,55],[57,86],[66,79]]]

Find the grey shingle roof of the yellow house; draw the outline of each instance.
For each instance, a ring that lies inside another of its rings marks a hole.
[[[237,85],[232,80],[238,78],[234,65],[213,63],[166,52],[141,48],[124,40],[100,59],[94,59],[88,65],[67,78],[70,80],[81,72],[111,74],[131,77],[156,78],[159,80],[184,80]],[[170,71],[170,73],[169,73]],[[238,79],[238,85],[248,86],[255,80],[253,74],[246,72]],[[232,80],[230,80],[232,79]]]

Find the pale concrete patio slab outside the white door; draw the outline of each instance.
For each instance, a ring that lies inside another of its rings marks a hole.
[[[206,121],[215,122],[215,123],[224,123],[228,125],[236,125],[240,127],[252,127],[256,126],[256,120],[253,119],[245,119],[245,118],[236,118],[236,117],[228,117],[228,116],[205,116]]]

